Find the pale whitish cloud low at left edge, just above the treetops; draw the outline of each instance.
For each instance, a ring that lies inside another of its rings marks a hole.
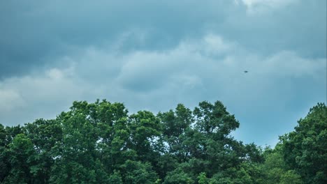
[[[90,90],[89,84],[73,75],[72,68],[52,68],[39,75],[1,81],[1,123],[23,124],[36,118],[54,118],[67,109],[73,100],[82,100]]]

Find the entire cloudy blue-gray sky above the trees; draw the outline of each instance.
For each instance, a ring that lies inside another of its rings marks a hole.
[[[12,0],[0,26],[3,125],[74,100],[154,113],[221,100],[235,138],[275,145],[326,102],[326,0]]]

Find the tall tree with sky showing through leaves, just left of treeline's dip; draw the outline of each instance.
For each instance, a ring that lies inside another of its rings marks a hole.
[[[203,161],[206,174],[211,177],[218,171],[238,166],[245,156],[245,149],[229,135],[239,126],[235,116],[229,114],[219,101],[214,105],[200,102],[194,109],[194,116],[196,125],[191,155],[209,161]]]

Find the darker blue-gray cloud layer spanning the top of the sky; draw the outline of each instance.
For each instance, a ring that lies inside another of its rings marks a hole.
[[[326,57],[326,1],[1,1],[0,7],[0,79],[58,66],[61,56],[107,47],[126,32],[122,53],[170,49],[215,33],[264,55]]]

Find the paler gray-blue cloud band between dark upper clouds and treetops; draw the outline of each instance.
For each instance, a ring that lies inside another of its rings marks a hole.
[[[114,45],[84,47],[55,61],[66,67],[0,82],[1,123],[53,118],[73,100],[107,98],[124,102],[131,112],[221,100],[241,122],[236,137],[275,144],[312,102],[326,100],[326,58],[308,59],[293,51],[266,56],[214,33],[162,51],[125,54],[119,48],[129,43],[122,40],[124,34]]]

